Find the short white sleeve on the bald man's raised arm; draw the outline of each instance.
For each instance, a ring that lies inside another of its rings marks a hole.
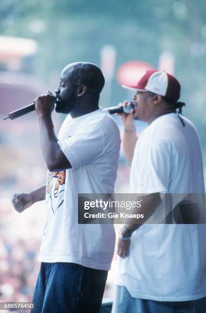
[[[104,153],[104,132],[100,124],[87,124],[66,139],[58,141],[72,169],[92,163]]]

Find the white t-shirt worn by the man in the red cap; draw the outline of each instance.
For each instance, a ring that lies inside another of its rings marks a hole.
[[[204,193],[202,158],[192,123],[177,114],[153,121],[137,141],[131,193]],[[157,208],[158,210],[158,208]],[[189,301],[206,296],[206,225],[145,224],[119,258],[118,285],[135,298]]]

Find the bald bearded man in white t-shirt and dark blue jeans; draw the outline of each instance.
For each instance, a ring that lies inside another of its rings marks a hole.
[[[114,193],[120,149],[119,128],[98,107],[105,79],[92,63],[72,63],[56,89],[58,113],[70,114],[58,137],[51,113],[54,97],[35,99],[47,184],[15,194],[18,212],[45,199],[41,268],[34,292],[35,313],[97,313],[114,253],[113,225],[78,224],[78,193]]]

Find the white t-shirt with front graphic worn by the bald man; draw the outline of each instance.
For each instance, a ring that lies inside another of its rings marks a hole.
[[[78,118],[67,116],[58,139],[72,169],[48,172],[39,261],[72,262],[109,270],[114,226],[78,224],[78,193],[114,192],[119,128],[108,111],[99,108]]]

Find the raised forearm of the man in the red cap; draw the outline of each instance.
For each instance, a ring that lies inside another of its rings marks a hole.
[[[124,150],[125,158],[130,165],[132,163],[135,145],[137,143],[137,140],[138,140],[138,138],[136,135],[135,126],[133,126],[133,128],[131,128],[131,129],[124,128],[123,150]]]

